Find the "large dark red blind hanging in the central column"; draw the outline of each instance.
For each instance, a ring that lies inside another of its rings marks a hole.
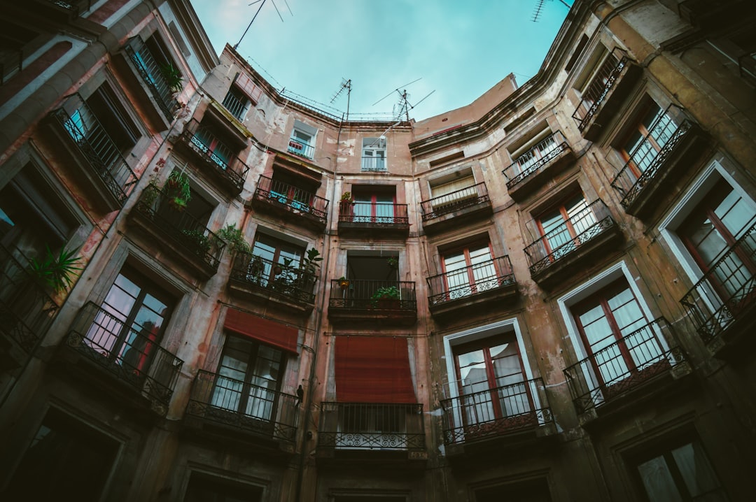
[[[407,338],[338,337],[336,399],[375,404],[417,402]]]

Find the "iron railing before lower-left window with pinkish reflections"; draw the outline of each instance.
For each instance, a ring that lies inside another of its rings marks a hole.
[[[86,303],[63,343],[167,408],[184,362],[160,346],[154,325],[126,326],[125,319],[112,307]]]

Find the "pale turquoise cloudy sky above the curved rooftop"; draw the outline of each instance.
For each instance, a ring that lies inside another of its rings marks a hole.
[[[472,103],[510,73],[522,85],[538,72],[568,12],[559,0],[544,0],[534,23],[538,0],[259,0],[249,5],[254,1],[191,3],[218,54],[227,42],[232,47],[240,42],[262,5],[239,54],[279,91],[338,110],[336,115],[346,111],[346,91],[332,99],[351,79],[350,119],[361,113],[390,119],[397,90],[406,89],[410,117],[422,120]]]

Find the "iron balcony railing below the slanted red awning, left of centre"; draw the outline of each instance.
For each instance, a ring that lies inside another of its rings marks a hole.
[[[186,408],[187,418],[253,433],[266,439],[296,440],[296,396],[222,374],[197,371]]]

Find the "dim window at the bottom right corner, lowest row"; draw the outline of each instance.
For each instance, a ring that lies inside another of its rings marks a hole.
[[[638,460],[634,469],[649,502],[730,500],[697,439],[657,448]]]

